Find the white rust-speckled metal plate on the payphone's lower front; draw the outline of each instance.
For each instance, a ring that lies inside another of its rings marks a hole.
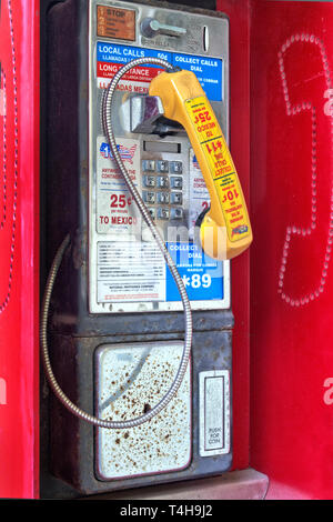
[[[98,414],[134,419],[160,402],[176,374],[183,343],[103,344],[97,350]],[[191,461],[191,372],[165,410],[129,430],[97,430],[97,475],[111,480],[182,470]]]

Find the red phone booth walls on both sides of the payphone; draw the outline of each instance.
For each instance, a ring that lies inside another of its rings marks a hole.
[[[36,498],[40,2],[0,6],[0,496]],[[218,9],[231,22],[231,151],[246,192],[251,142],[254,229],[250,293],[248,254],[233,267],[234,465],[268,473],[269,498],[332,498],[333,6]]]

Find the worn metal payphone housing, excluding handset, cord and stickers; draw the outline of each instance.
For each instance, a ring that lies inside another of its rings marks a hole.
[[[119,32],[115,39],[109,33],[99,36],[98,7],[129,11],[127,16],[134,20],[133,39],[122,40]],[[151,20],[158,20],[159,24]],[[151,408],[170,385],[180,357],[183,317],[180,302],[162,299],[162,290],[157,300],[131,301],[128,299],[130,291],[123,293],[124,301],[101,299],[105,285],[99,289],[98,274],[103,272],[109,277],[111,272],[110,265],[101,260],[117,257],[117,243],[124,243],[127,239],[127,249],[122,250],[124,259],[131,255],[133,244],[143,244],[143,250],[153,245],[144,225],[133,234],[113,233],[99,220],[99,194],[108,187],[99,184],[98,179],[99,169],[107,167],[100,151],[103,132],[99,82],[102,79],[97,74],[97,46],[108,42],[122,51],[149,49],[173,53],[173,58],[198,56],[221,60],[221,100],[212,104],[229,137],[229,22],[221,13],[189,11],[172,4],[167,8],[150,2],[67,0],[51,7],[46,23],[48,159],[44,183],[49,265],[63,237],[68,232],[72,237],[52,297],[49,321],[52,364],[60,384],[81,408],[120,418],[134,415]],[[141,87],[145,87],[144,83],[141,82]],[[119,91],[118,98],[118,107],[122,108],[128,97]],[[169,128],[160,134],[132,133],[121,113],[114,126],[123,147],[138,144],[135,175],[145,198],[149,192],[154,194],[151,207],[161,230],[167,234],[167,222],[174,209],[182,212],[176,218],[173,212],[172,219],[188,225],[191,211],[195,214],[196,210],[194,203],[191,204],[193,190],[189,183],[193,158],[184,131]],[[181,172],[176,170],[180,164]],[[150,177],[155,183],[152,190],[145,187]],[[158,187],[163,177],[168,178],[168,187]],[[172,185],[176,179],[182,182],[181,190]],[[109,195],[112,193],[111,190]],[[173,194],[181,194],[175,204],[171,203]],[[169,213],[163,214],[161,209]],[[119,260],[117,267],[121,267]],[[138,280],[139,268],[140,264],[135,268]],[[125,275],[127,270],[124,268]],[[216,299],[192,301],[193,351],[183,388],[174,404],[170,404],[170,411],[165,411],[164,416],[162,412],[151,426],[142,426],[135,433],[108,433],[80,422],[52,393],[46,392],[42,495],[63,498],[110,492],[214,475],[230,468],[233,328],[230,264],[225,262],[221,270],[223,292],[218,289]],[[119,281],[123,284],[121,275]],[[46,454],[50,455],[48,464]]]

